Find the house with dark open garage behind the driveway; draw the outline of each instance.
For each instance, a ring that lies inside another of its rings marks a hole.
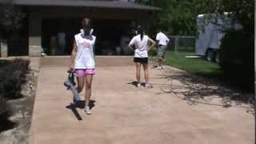
[[[148,25],[160,10],[130,0],[15,0],[14,4],[22,7],[26,18],[18,40],[9,42],[9,56],[39,56],[42,50],[54,54],[60,32],[65,33],[66,45],[58,54],[70,54],[84,17],[93,19],[96,54],[115,54],[121,39],[130,38],[138,24]]]

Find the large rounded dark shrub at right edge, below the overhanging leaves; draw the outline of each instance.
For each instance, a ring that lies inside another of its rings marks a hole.
[[[233,85],[254,90],[254,35],[229,30],[222,38],[220,66]]]

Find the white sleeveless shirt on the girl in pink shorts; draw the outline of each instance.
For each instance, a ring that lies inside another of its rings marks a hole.
[[[83,32],[74,35],[75,42],[78,46],[78,52],[74,62],[74,69],[95,69],[94,61],[94,43],[96,37],[86,39],[82,37]]]

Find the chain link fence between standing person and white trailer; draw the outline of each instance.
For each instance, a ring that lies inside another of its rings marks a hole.
[[[168,50],[195,51],[196,37],[194,36],[169,35],[168,38],[170,38]]]

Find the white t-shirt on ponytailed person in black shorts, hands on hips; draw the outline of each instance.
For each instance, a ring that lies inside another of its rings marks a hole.
[[[142,40],[141,40],[141,35],[138,34],[134,36],[130,40],[129,46],[135,46],[135,51],[134,51],[134,57],[135,58],[147,58],[147,50],[148,50],[148,41],[149,37],[147,35],[144,35]]]

